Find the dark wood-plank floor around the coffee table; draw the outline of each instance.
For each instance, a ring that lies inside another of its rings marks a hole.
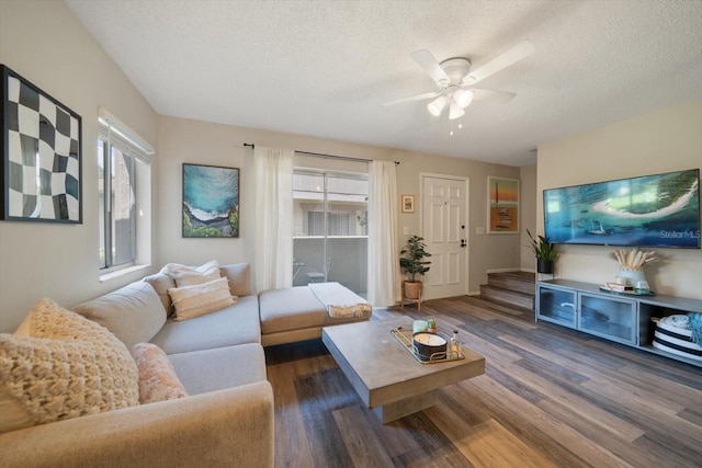
[[[485,375],[383,425],[321,341],[269,347],[276,466],[702,466],[702,368],[535,323],[532,310],[479,297],[421,309],[374,319],[449,322],[485,356]]]

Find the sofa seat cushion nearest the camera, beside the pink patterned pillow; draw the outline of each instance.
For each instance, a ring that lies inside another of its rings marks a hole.
[[[168,356],[190,395],[265,380],[265,355],[258,343]]]

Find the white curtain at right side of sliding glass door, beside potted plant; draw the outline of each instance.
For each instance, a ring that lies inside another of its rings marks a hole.
[[[389,307],[400,299],[395,162],[373,161],[370,172],[367,300]]]

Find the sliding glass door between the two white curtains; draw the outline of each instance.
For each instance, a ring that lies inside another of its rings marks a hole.
[[[293,286],[367,289],[367,173],[295,170]]]

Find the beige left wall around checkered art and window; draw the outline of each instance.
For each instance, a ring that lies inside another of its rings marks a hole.
[[[0,0],[0,62],[82,117],[83,174],[82,225],[0,221],[4,332],[16,328],[41,297],[72,306],[136,278],[99,281],[98,106],[152,145],[157,116],[61,1]]]

